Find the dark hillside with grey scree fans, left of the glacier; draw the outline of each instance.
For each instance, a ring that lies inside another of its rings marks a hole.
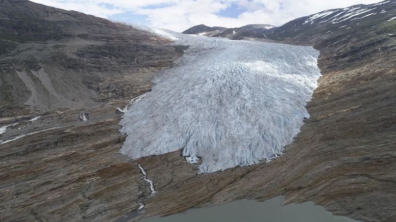
[[[133,27],[24,0],[0,1],[0,103],[42,111],[138,95],[180,54]]]

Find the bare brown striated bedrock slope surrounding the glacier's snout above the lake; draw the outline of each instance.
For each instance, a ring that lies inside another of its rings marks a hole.
[[[12,7],[22,3],[26,2]],[[9,141],[0,145],[0,220],[108,221],[128,213],[136,220],[277,195],[285,195],[289,202],[314,201],[335,214],[364,221],[394,220],[396,42],[389,35],[396,30],[396,19],[391,19],[396,16],[394,5],[395,1],[387,1],[367,6],[388,14],[359,19],[365,26],[353,26],[354,18],[343,24],[311,24],[305,22],[312,17],[308,16],[274,31],[271,38],[277,41],[319,49],[323,77],[307,105],[311,117],[285,154],[268,164],[197,175],[196,166],[186,163],[180,151],[130,161],[118,154],[125,136],[118,132],[121,115],[116,107],[128,103],[122,99],[44,115],[2,110],[1,126],[11,126],[0,135],[1,143]],[[345,29],[340,28],[343,25]],[[332,27],[333,33],[324,27]],[[81,113],[90,113],[91,119],[79,121]],[[33,132],[37,133],[26,135]],[[18,136],[23,137],[10,141]],[[154,182],[155,195],[150,196],[150,184],[136,163]],[[138,211],[139,203],[145,207]]]

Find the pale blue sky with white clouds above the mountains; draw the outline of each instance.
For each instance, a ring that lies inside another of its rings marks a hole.
[[[317,12],[381,0],[31,0],[112,20],[182,32],[191,26],[282,25]]]

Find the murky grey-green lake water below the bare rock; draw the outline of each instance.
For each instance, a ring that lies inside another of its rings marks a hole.
[[[253,200],[239,200],[228,204],[203,208],[192,208],[182,213],[165,216],[149,217],[142,222],[352,222],[357,221],[345,216],[335,216],[324,207],[313,202],[301,204],[284,203],[283,197],[276,197],[264,202]],[[129,218],[131,219],[131,218]]]

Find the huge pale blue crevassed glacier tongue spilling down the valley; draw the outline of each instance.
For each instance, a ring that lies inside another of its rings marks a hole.
[[[138,28],[190,47],[123,115],[121,154],[183,149],[211,173],[281,155],[309,117],[305,105],[321,75],[312,47]]]

